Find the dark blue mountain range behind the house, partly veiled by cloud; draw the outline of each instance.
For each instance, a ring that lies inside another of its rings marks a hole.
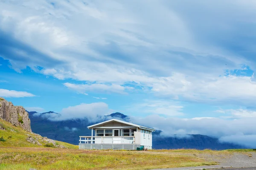
[[[29,117],[31,119],[31,128],[35,133],[39,133],[48,138],[68,142],[71,144],[78,144],[79,136],[91,136],[91,130],[87,129],[87,126],[98,122],[89,122],[85,119],[76,120],[63,120],[63,121],[50,121],[47,119],[46,112],[39,113],[40,116],[34,116],[35,112],[30,112]],[[118,118],[129,122],[129,116],[122,113],[112,113],[103,118],[102,121]],[[153,133],[153,148],[154,149],[179,149],[179,148],[193,148],[193,149],[213,149],[213,150],[223,150],[223,149],[236,149],[244,148],[241,145],[236,145],[232,143],[221,143],[218,139],[212,138],[205,135],[188,135],[186,138],[180,138],[178,135],[172,137],[160,136],[161,131],[156,130]]]

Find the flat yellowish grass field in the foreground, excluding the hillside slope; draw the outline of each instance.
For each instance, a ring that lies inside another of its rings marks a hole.
[[[0,147],[3,170],[145,170],[216,164],[193,156],[172,153],[77,150],[40,147]]]

